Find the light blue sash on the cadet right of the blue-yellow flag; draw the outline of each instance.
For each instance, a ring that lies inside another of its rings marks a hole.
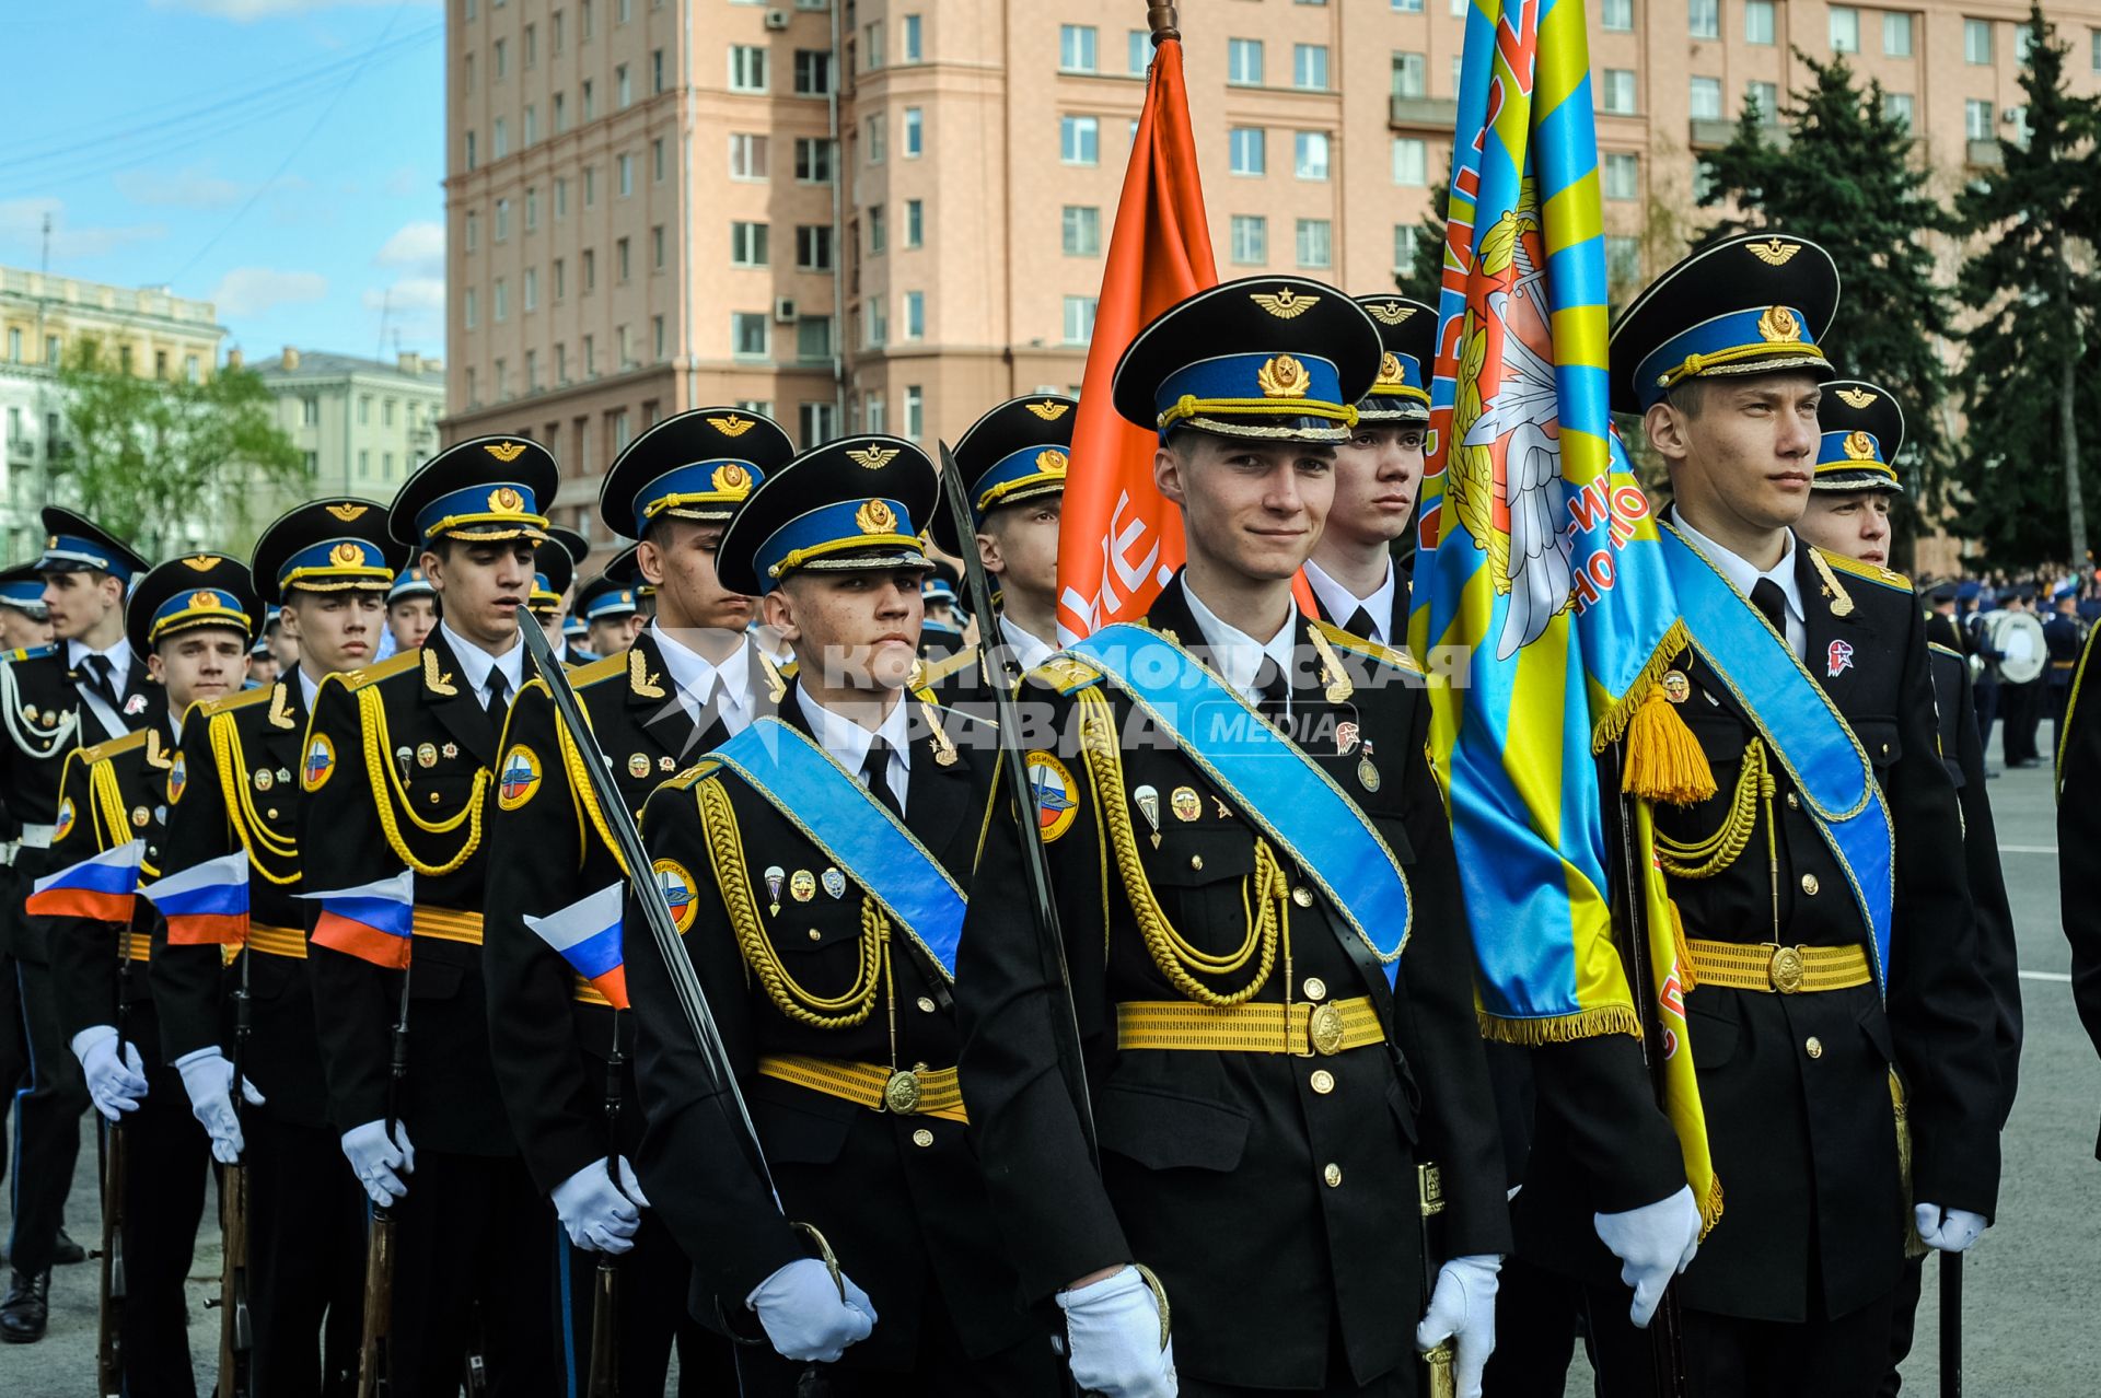
[[[1662,525],[1664,565],[1693,649],[1759,724],[1765,745],[1801,789],[1868,924],[1874,982],[1887,993],[1897,838],[1874,764],[1788,638],[1670,521]],[[1794,546],[1809,548],[1803,542]]]

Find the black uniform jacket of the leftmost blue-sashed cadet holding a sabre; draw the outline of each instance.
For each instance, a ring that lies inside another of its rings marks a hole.
[[[927,728],[935,705],[916,695],[903,703],[918,709],[906,825],[956,884],[966,886],[994,770],[990,735],[954,709],[937,709],[933,722],[956,751],[956,760],[943,764],[941,745]],[[782,699],[779,716],[803,728],[794,689]],[[708,848],[698,804],[704,785],[727,793],[740,848]],[[689,890],[685,949],[721,1024],[779,1188],[775,1209],[748,1161],[735,1108],[719,1100],[643,913],[630,898],[626,974],[647,1113],[639,1169],[658,1215],[693,1259],[693,1314],[710,1325],[719,1325],[721,1316],[744,1316],[750,1329],[744,1299],[752,1289],[782,1266],[811,1255],[803,1236],[788,1228],[786,1220],[796,1220],[824,1232],[847,1276],[876,1306],[874,1335],[847,1350],[845,1367],[912,1364],[933,1295],[939,1295],[971,1356],[1025,1339],[1034,1325],[1015,1306],[1015,1274],[1000,1251],[962,1123],[876,1113],[754,1071],[763,1054],[880,1068],[950,1068],[956,1064],[958,1031],[943,978],[931,974],[893,928],[889,974],[866,1020],[821,1029],[790,1018],[740,949],[731,901],[712,861],[740,867],[752,890],[756,934],[773,947],[788,978],[813,997],[840,997],[861,974],[859,886],[849,877],[843,886],[834,880],[840,896],[824,890],[819,875],[828,871],[828,861],[817,846],[729,775],[681,777],[660,787],[649,800],[645,835],[660,880]],[[788,875],[777,913],[767,892],[769,867]]]

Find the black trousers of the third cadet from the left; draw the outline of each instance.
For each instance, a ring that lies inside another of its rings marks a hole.
[[[254,1398],[349,1394],[363,1339],[363,1190],[336,1131],[248,1108]]]

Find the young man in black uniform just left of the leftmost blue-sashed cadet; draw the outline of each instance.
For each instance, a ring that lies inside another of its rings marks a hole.
[[[637,437],[605,476],[605,525],[641,535],[641,567],[660,581],[660,611],[632,649],[571,672],[569,682],[635,812],[658,783],[742,733],[777,697],[779,676],[744,634],[750,598],[723,588],[714,550],[737,504],[792,456],[788,435],[771,420],[702,407]],[[658,1215],[637,1209],[630,1161],[643,1113],[635,1096],[635,1029],[525,924],[622,877],[611,838],[601,833],[605,817],[571,777],[580,756],[557,728],[546,684],[527,682],[504,730],[490,835],[492,859],[504,869],[490,888],[483,953],[496,1081],[534,1184],[555,1201],[574,1245],[574,1371],[590,1362],[590,1287],[582,1278],[597,1266],[595,1251],[626,1253],[622,1390],[662,1392],[677,1339],[681,1392],[729,1392],[729,1346],[687,1318],[691,1264]],[[603,1110],[616,1033],[628,1064],[611,1152],[622,1186],[609,1169]]]

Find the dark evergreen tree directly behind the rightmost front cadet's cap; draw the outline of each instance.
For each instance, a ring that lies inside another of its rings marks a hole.
[[[1866,378],[1904,403],[1910,443],[1906,523],[1939,518],[1950,504],[1943,346],[1954,338],[1946,292],[1933,279],[1933,239],[1960,231],[1914,157],[1910,126],[1882,109],[1882,84],[1855,84],[1845,59],[1809,67],[1809,86],[1782,109],[1788,139],[1773,141],[1754,103],[1735,132],[1702,155],[1700,204],[1733,210],[1710,237],[1784,229],[1838,262],[1843,300],[1824,351],[1847,378]],[[1908,531],[1906,531],[1908,533]]]

